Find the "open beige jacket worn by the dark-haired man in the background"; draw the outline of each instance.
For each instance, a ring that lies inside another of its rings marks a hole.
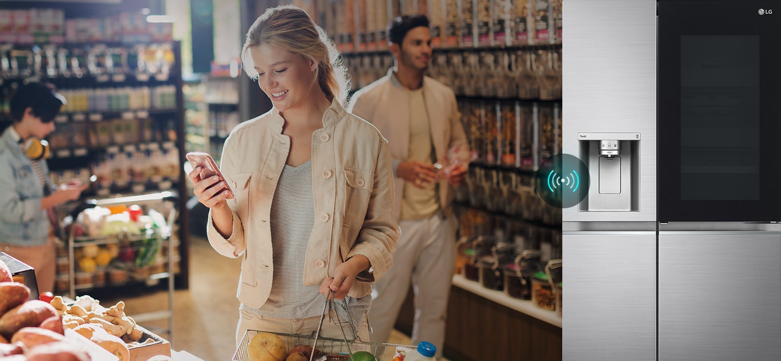
[[[459,158],[464,166],[469,166],[469,144],[466,141],[461,113],[455,102],[455,93],[437,80],[423,78],[423,98],[426,100],[431,141],[437,159],[448,155],[448,149],[461,145]],[[398,163],[408,158],[409,152],[409,100],[405,89],[393,73],[388,70],[385,77],[376,80],[355,92],[348,105],[348,112],[373,123],[388,140],[393,158],[394,176]],[[401,198],[404,197],[406,182],[395,178],[394,216],[401,217]],[[440,181],[440,209],[445,215],[451,213],[453,188],[447,180]]]

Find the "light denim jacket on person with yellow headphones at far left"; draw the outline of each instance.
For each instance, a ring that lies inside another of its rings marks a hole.
[[[0,242],[45,245],[49,221],[45,209],[41,209],[44,191],[32,162],[41,166],[48,187],[53,189],[54,185],[48,177],[46,161],[27,158],[9,130],[10,127],[0,137]]]

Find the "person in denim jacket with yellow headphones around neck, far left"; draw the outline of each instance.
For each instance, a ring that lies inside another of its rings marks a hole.
[[[77,181],[54,188],[43,159],[41,139],[65,103],[48,85],[21,84],[11,99],[13,123],[0,137],[0,251],[35,269],[38,292],[54,291],[53,208],[87,188]]]

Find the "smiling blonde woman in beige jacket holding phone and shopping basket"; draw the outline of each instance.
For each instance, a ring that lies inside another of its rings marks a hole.
[[[200,168],[189,174],[210,209],[212,247],[244,257],[237,344],[246,330],[312,334],[325,295],[344,303],[328,306],[323,337],[341,338],[344,327],[367,341],[370,284],[391,267],[399,236],[387,142],[344,111],[341,56],[303,10],[268,9],[242,57],[273,109],[225,141],[220,167],[236,197]]]

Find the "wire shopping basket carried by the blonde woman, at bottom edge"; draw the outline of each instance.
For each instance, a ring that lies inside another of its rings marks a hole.
[[[305,334],[283,334],[280,332],[248,330],[244,332],[244,337],[241,338],[241,343],[239,344],[239,347],[234,353],[233,361],[251,361],[248,353],[249,341],[253,337],[255,337],[255,334],[259,334],[260,332],[276,334],[277,336],[282,338],[282,341],[284,341],[285,345],[287,345],[288,350],[300,345],[312,346],[312,344],[314,344],[315,342],[315,336],[316,336],[315,332],[312,332],[312,334],[310,335],[305,335]],[[353,353],[358,351],[371,352],[374,355],[374,357],[377,359],[377,361],[392,361],[396,353],[397,347],[411,348],[411,349],[415,348],[415,346],[411,346],[411,345],[380,344],[380,343],[364,342],[360,338],[357,338],[353,341],[344,341],[341,338],[324,338],[324,337],[317,338],[317,346],[316,346],[316,348],[319,349],[321,352],[325,352],[326,354],[329,355],[333,353],[344,354],[345,356],[344,359],[347,359],[350,356],[349,353],[350,351],[352,351]]]

